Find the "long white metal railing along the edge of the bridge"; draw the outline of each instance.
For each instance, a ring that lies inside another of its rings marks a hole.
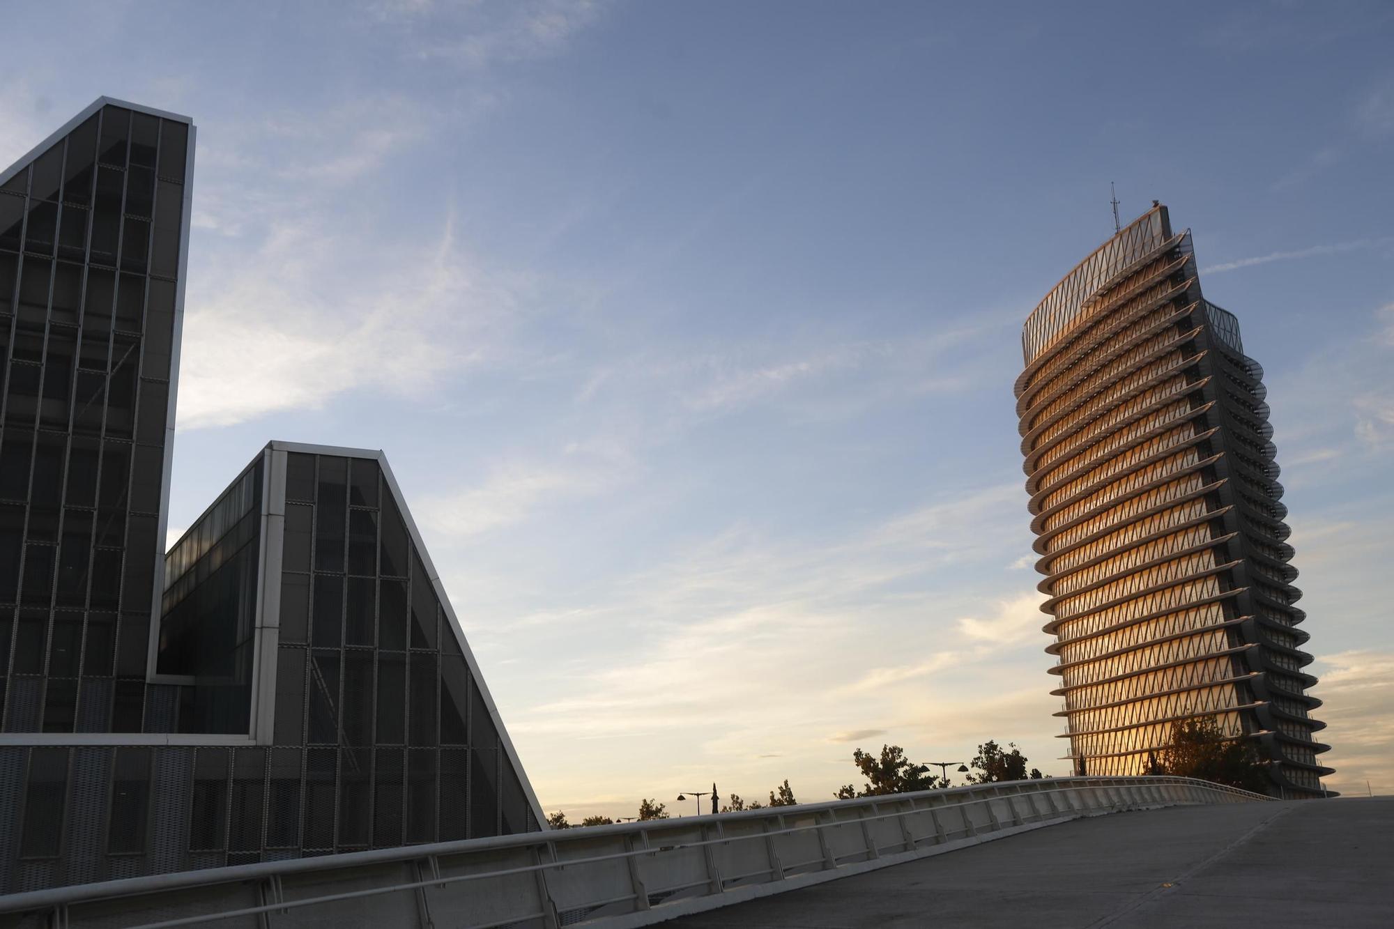
[[[0,897],[0,926],[643,926],[1080,816],[1267,801],[1061,777],[382,848]]]

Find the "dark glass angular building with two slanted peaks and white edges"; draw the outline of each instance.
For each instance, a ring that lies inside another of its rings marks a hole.
[[[381,452],[272,442],[162,554],[192,123],[0,172],[0,893],[539,829]]]

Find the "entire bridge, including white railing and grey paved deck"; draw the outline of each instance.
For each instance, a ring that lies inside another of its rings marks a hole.
[[[1342,884],[1309,893],[1305,875],[1340,861],[1347,883],[1383,884],[1391,813],[1186,778],[1048,778],[63,887],[0,898],[0,926],[1090,926],[1167,907],[1182,915],[1157,925],[1204,925],[1213,893],[1289,893],[1284,919],[1359,925],[1322,902]],[[1377,872],[1335,854],[1352,836]]]

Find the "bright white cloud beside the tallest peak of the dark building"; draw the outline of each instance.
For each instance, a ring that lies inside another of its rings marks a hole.
[[[277,225],[250,262],[191,282],[180,428],[318,409],[354,389],[421,396],[498,343],[513,293],[470,259],[449,218],[424,254],[358,269],[340,252],[353,237],[326,226]]]

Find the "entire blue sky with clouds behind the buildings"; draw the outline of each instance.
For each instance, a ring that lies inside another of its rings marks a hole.
[[[1267,370],[1330,785],[1394,792],[1390,4],[6,24],[0,162],[103,93],[199,127],[173,530],[269,438],[385,449],[548,809],[1066,771],[1011,388],[1110,181]]]

